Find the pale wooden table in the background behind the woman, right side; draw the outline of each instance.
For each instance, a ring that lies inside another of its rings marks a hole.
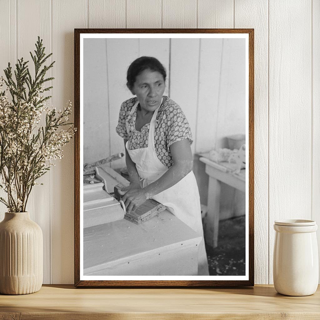
[[[205,163],[205,172],[209,175],[208,213],[204,238],[213,248],[218,245],[220,191],[221,182],[245,192],[245,169],[235,173],[236,164],[228,162],[216,163],[208,159],[209,154],[200,154],[200,161]]]

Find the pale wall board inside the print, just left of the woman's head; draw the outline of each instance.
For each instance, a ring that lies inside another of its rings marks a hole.
[[[121,59],[119,59],[119,55]],[[116,133],[121,103],[133,95],[126,86],[127,69],[138,58],[138,39],[108,39],[109,137],[110,154],[124,152],[123,139]],[[112,163],[113,168],[125,166],[125,159]]]

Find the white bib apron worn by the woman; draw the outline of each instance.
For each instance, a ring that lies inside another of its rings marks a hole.
[[[130,114],[135,111],[138,103],[139,101],[133,106]],[[168,167],[158,159],[155,150],[155,123],[160,106],[155,110],[150,121],[148,147],[129,150],[128,141],[125,146],[132,161],[136,164],[142,188],[158,180],[168,170]],[[129,133],[131,129],[128,122],[126,127]],[[194,173],[189,172],[178,183],[153,196],[152,199],[165,205],[172,214],[196,231],[198,236],[202,236],[198,254],[198,275],[209,276],[201,220],[200,196]]]

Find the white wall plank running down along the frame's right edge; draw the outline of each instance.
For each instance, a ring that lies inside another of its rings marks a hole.
[[[268,3],[235,2],[235,28],[254,28],[254,279],[268,279]]]

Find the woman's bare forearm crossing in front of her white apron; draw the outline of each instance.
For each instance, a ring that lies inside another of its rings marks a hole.
[[[172,187],[192,170],[192,161],[174,163],[158,180],[143,188],[147,199]]]

